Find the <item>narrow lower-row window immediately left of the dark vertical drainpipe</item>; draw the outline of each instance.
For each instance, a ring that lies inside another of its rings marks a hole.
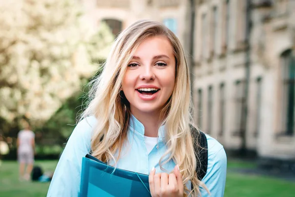
[[[235,134],[240,135],[245,128],[241,128],[242,125],[242,113],[243,113],[243,102],[244,102],[244,88],[242,81],[236,81],[236,92],[235,92]]]

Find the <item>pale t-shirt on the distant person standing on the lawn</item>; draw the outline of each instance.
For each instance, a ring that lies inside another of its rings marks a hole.
[[[30,153],[33,152],[32,139],[35,138],[35,133],[30,130],[21,130],[18,133],[19,138],[19,152]]]

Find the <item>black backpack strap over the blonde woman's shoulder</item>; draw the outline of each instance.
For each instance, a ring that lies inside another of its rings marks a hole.
[[[198,131],[195,127],[191,126],[191,132],[198,132],[198,134],[193,134],[192,136],[197,136],[197,139],[195,139],[195,142],[198,142],[198,145],[194,142],[194,148],[197,160],[197,176],[199,180],[202,180],[206,173],[207,173],[207,167],[208,167],[208,143],[207,143],[207,137],[204,132]],[[200,162],[198,160],[198,156],[200,158]]]

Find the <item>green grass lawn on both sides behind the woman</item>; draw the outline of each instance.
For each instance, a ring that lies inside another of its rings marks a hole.
[[[57,161],[37,161],[45,171],[53,171]],[[229,168],[255,165],[231,161]],[[3,162],[0,166],[0,197],[45,197],[49,183],[20,182],[16,162]],[[224,197],[295,197],[295,182],[287,182],[269,177],[227,174]]]

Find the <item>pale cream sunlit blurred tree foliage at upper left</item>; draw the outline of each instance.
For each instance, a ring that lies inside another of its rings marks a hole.
[[[0,117],[48,120],[97,70],[114,40],[72,0],[0,1]],[[94,61],[93,61],[94,60]]]

